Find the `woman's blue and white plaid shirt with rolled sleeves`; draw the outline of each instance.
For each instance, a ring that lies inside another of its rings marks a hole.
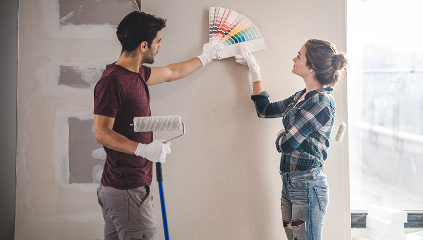
[[[332,91],[330,87],[311,91],[297,105],[305,89],[273,103],[266,91],[251,96],[260,118],[283,117],[286,133],[276,139],[276,148],[282,153],[281,172],[324,166],[336,112]]]

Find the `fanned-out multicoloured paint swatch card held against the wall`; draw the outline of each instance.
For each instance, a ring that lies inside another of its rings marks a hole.
[[[245,43],[250,52],[266,49],[259,29],[251,20],[234,10],[223,7],[210,7],[209,43],[212,46],[223,46],[214,59],[242,54],[240,43]]]

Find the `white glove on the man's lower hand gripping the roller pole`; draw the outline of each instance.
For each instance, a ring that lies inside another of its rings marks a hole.
[[[139,143],[135,155],[152,162],[164,163],[166,154],[170,153],[170,142],[166,140],[154,140],[150,144]]]

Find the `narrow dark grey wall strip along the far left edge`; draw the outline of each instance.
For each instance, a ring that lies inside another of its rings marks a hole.
[[[0,3],[0,232],[15,233],[16,107],[18,80],[18,0]]]

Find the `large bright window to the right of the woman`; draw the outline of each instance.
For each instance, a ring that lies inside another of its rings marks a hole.
[[[423,211],[422,0],[348,0],[351,210]]]

